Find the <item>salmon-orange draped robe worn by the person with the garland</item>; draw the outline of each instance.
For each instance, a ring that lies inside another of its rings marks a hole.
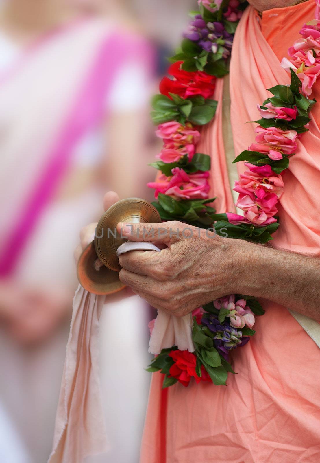
[[[267,97],[265,88],[289,83],[280,61],[301,37],[303,23],[314,18],[314,7],[309,0],[266,11],[262,19],[252,7],[246,9],[234,38],[230,69],[236,153],[254,140],[255,125],[244,123],[259,118],[256,105]],[[222,85],[220,80],[215,94],[220,101]],[[320,81],[314,96],[319,89]],[[313,116],[319,123],[320,103]],[[220,196],[218,212],[225,212],[234,209],[221,124],[220,103],[215,121],[203,130],[201,144],[202,152],[212,158],[211,193]],[[319,255],[320,131],[314,119],[298,141],[283,180],[282,225],[273,243]],[[229,375],[227,387],[191,381],[187,388],[177,383],[161,390],[163,375],[153,375],[141,463],[320,462],[319,347],[287,308],[267,301],[264,306],[265,315],[256,317],[257,333],[233,353],[238,374]]]

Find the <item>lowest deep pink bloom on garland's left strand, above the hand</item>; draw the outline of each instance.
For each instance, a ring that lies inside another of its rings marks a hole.
[[[175,167],[172,175],[160,175],[158,181],[148,183],[148,187],[155,188],[154,196],[159,193],[167,194],[178,199],[206,199],[209,193],[209,172],[187,174],[183,169]]]

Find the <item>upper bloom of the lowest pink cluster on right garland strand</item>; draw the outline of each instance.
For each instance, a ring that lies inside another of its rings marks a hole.
[[[257,166],[250,163],[245,163],[245,165],[249,167],[249,170],[241,174],[239,181],[234,183],[234,191],[240,194],[248,194],[249,192],[255,194],[259,188],[263,188],[266,192],[275,193],[277,198],[281,197],[284,189],[282,176],[272,172],[270,165],[266,164],[271,170],[271,173],[268,172],[269,175],[265,175],[265,173],[259,174],[259,171],[257,172],[257,169],[263,172],[263,168],[266,166],[257,168]]]

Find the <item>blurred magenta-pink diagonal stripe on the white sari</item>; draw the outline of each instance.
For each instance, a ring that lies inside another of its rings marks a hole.
[[[101,44],[92,69],[68,114],[59,137],[52,146],[43,175],[35,181],[35,186],[25,201],[20,220],[3,248],[0,275],[10,275],[14,270],[37,220],[68,169],[74,146],[86,131],[105,117],[105,95],[110,94],[117,71],[126,58],[131,59],[137,53],[141,56],[148,50],[143,50],[142,47],[143,44],[132,41],[129,36],[123,34],[120,36],[117,32],[108,35]]]

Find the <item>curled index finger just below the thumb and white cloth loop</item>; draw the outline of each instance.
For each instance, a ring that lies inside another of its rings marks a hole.
[[[157,277],[160,275],[162,269],[160,261],[162,262],[166,259],[166,253],[168,252],[168,248],[160,252],[129,251],[119,256],[119,263],[123,269],[129,270],[130,272],[158,279]]]

